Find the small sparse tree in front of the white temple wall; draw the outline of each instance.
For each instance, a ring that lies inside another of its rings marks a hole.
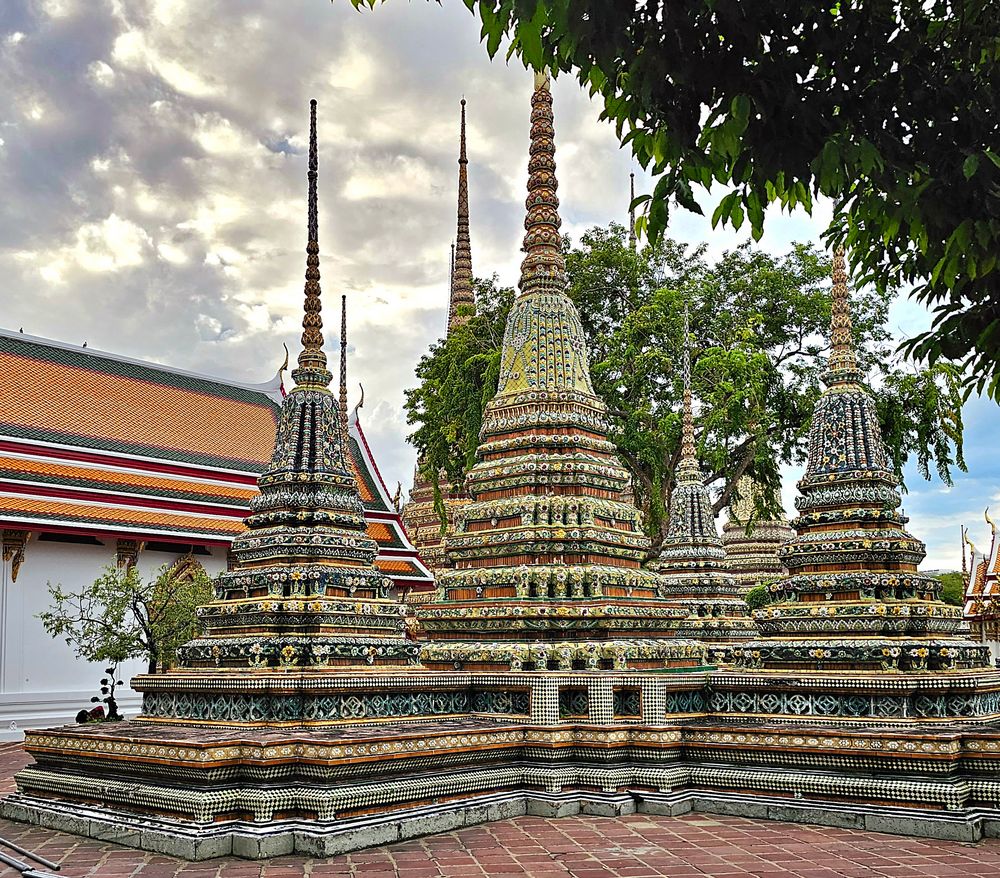
[[[134,566],[110,565],[81,592],[49,583],[49,594],[52,609],[38,614],[48,634],[65,637],[86,661],[144,658],[155,674],[171,667],[177,648],[194,637],[195,611],[214,589],[200,564],[182,558],[149,580]]]

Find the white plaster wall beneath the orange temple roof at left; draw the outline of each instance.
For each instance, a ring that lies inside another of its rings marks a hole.
[[[37,614],[49,607],[48,583],[64,590],[79,591],[93,582],[108,565],[115,563],[115,540],[103,546],[38,540],[32,534],[16,582],[10,581],[10,563],[2,565],[0,578],[0,740],[21,740],[26,728],[44,728],[71,723],[77,712],[91,707],[104,676],[100,664],[78,658],[65,640],[45,633]],[[197,559],[209,575],[225,569],[224,549]],[[143,576],[172,564],[178,555],[144,551],[139,555]],[[125,680],[119,706],[125,715],[139,710],[140,696],[128,687],[145,663],[134,661],[119,671]]]

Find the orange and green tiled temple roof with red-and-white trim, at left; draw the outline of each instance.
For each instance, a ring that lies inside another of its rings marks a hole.
[[[229,543],[282,393],[0,329],[0,527]],[[357,412],[348,445],[379,568],[430,588]]]

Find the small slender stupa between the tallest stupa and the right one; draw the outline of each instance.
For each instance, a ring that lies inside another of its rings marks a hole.
[[[695,453],[691,399],[691,342],[684,309],[684,396],[681,457],[670,497],[670,524],[649,567],[660,574],[660,591],[688,612],[683,634],[709,646],[712,662],[726,662],[734,643],[756,636],[743,591],[726,570],[726,553],[715,526],[712,498]]]

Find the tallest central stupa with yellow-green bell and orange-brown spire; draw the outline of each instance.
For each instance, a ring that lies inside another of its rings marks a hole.
[[[447,540],[455,569],[418,608],[430,667],[662,668],[701,663],[670,639],[686,612],[641,568],[639,513],[608,441],[580,317],[566,294],[552,95],[536,77],[520,293],[483,416],[471,502]]]

